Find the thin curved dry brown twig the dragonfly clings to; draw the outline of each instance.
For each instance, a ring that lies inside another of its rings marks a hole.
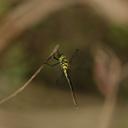
[[[56,53],[56,51],[59,49],[59,45],[56,45],[53,49],[53,51],[51,52],[51,54],[48,56],[48,58],[44,61],[44,63],[37,69],[37,71],[30,77],[30,79],[28,79],[28,81],[18,90],[16,90],[14,93],[10,94],[9,96],[3,98],[2,100],[0,100],[0,104],[5,103],[6,101],[10,100],[11,98],[15,97],[17,94],[19,94],[20,92],[22,92],[29,84],[30,82],[40,73],[40,71],[44,68],[45,63],[47,63],[49,61],[49,59],[51,59],[51,57]]]

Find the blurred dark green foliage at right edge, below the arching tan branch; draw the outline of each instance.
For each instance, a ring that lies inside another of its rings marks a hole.
[[[128,26],[111,25],[106,36],[106,42],[122,59],[123,63],[128,61]]]

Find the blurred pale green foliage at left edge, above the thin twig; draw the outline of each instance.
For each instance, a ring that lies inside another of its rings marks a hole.
[[[17,43],[4,54],[1,62],[1,95],[21,87],[27,72],[28,66],[25,61],[24,48],[21,43]]]

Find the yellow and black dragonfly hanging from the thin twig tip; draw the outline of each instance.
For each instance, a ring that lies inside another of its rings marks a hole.
[[[57,62],[54,63],[54,64],[46,63],[47,65],[49,65],[51,67],[60,65],[61,70],[63,71],[63,74],[64,74],[64,76],[67,80],[67,83],[69,85],[71,96],[72,96],[73,103],[74,103],[75,106],[78,106],[78,103],[77,103],[77,100],[76,100],[77,99],[76,94],[75,94],[74,87],[73,87],[71,77],[70,77],[69,74],[70,74],[70,62],[72,61],[72,59],[74,58],[74,56],[77,52],[78,52],[78,49],[74,52],[72,57],[70,59],[68,59],[63,53],[60,52],[59,49],[57,49],[56,52],[52,56],[52,58],[54,60],[56,60]]]

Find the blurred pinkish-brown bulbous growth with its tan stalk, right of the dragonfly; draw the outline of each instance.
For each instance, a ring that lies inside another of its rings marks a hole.
[[[109,128],[121,82],[122,64],[118,56],[107,46],[95,48],[94,77],[101,93],[105,96],[98,128]]]

